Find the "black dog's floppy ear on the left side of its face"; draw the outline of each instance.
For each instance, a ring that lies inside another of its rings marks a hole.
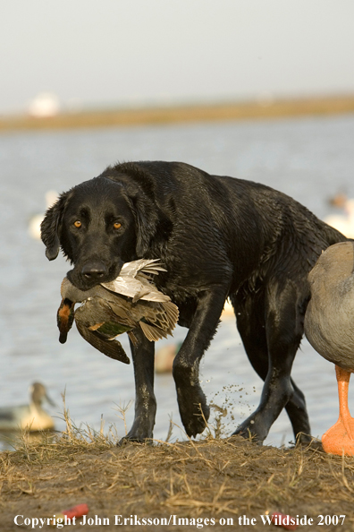
[[[69,193],[62,193],[57,202],[46,210],[45,217],[40,224],[40,236],[43,244],[46,245],[46,258],[49,261],[54,261],[59,253],[59,229],[68,198]]]

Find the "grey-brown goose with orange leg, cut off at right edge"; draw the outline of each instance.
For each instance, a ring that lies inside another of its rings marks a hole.
[[[354,455],[354,418],[348,392],[354,373],[354,242],[331,245],[308,274],[311,298],[305,335],[313,348],[335,365],[339,418],[322,436],[330,454]]]

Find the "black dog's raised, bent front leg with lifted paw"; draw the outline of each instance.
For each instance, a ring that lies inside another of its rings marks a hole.
[[[218,287],[198,296],[198,306],[190,330],[173,362],[181,421],[189,436],[196,436],[206,428],[209,407],[199,383],[199,363],[215,334],[226,298],[226,291]]]

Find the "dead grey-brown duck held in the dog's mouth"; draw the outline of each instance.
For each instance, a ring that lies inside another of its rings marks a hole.
[[[82,291],[64,278],[62,303],[57,313],[59,341],[64,343],[75,320],[83,339],[105,356],[130,364],[121,343],[115,339],[127,332],[133,344],[139,327],[147,339],[156,341],[171,334],[178,308],[159,292],[149,275],[164,270],[156,260],[140,259],[123,265],[118,278]],[[76,311],[76,303],[82,303]]]

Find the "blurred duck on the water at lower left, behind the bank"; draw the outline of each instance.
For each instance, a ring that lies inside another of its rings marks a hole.
[[[46,393],[46,387],[41,382],[33,382],[30,386],[30,404],[0,408],[0,431],[16,431],[26,429],[38,432],[53,429],[55,426],[52,416],[42,408],[42,401],[55,406]]]

